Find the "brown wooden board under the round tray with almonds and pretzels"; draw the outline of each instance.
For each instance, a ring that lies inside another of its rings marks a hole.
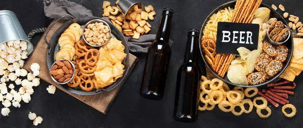
[[[49,30],[49,32],[47,34],[47,40],[49,40],[53,36],[55,31],[60,26],[62,26],[65,22],[66,22],[66,20],[61,20],[61,21],[57,22],[54,25],[54,27],[51,30]],[[110,92],[104,92],[104,93],[101,93],[98,95],[93,95],[93,96],[80,96],[80,95],[72,94],[72,93],[64,90],[62,87],[60,87],[55,81],[52,80],[51,76],[49,75],[49,73],[48,73],[49,71],[48,71],[48,68],[46,65],[46,59],[45,59],[46,50],[47,50],[47,45],[45,44],[44,34],[43,34],[43,36],[40,38],[36,48],[34,49],[32,54],[29,56],[26,63],[24,64],[23,68],[25,68],[27,71],[31,72],[30,65],[32,63],[38,63],[40,65],[40,75],[38,75],[38,77],[40,77],[41,79],[45,80],[46,82],[48,82],[50,84],[55,85],[58,89],[68,93],[69,95],[77,98],[78,100],[84,102],[85,104],[106,114],[107,110],[109,109],[112,102],[115,100],[117,94],[119,93],[121,87],[123,86],[125,80],[120,84],[120,86],[118,86],[116,89],[114,89]],[[129,62],[128,62],[128,64],[130,65],[129,73],[131,72],[131,70],[133,69],[135,64],[137,63],[137,60],[138,60],[137,57],[135,57],[132,54],[129,54]],[[129,73],[126,74],[127,75],[126,77],[128,77]]]

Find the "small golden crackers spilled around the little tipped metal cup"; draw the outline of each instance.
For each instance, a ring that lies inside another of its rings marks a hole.
[[[118,4],[119,0],[116,2]],[[156,12],[154,7],[151,5],[145,6],[143,9],[139,9],[138,5],[133,5],[125,15],[120,14],[118,17],[110,16],[118,15],[119,9],[117,7],[112,7],[111,3],[108,1],[103,1],[103,17],[109,17],[111,22],[126,36],[131,36],[131,38],[139,39],[140,34],[148,33],[151,29],[150,24],[147,22],[149,20],[154,20]]]

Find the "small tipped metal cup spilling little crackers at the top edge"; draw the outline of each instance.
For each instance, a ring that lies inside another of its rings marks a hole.
[[[117,4],[117,7],[119,9],[119,11],[124,15],[124,20],[125,19],[125,14],[128,14],[129,9],[133,6],[133,5],[138,5],[139,9],[143,9],[143,5],[139,2],[134,2],[132,0],[120,0]]]

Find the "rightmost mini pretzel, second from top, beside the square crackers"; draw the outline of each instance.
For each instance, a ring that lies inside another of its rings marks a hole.
[[[90,49],[85,54],[84,60],[87,65],[95,66],[98,62],[99,51],[97,49]]]

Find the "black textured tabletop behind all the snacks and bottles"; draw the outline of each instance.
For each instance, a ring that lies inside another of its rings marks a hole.
[[[103,1],[77,0],[75,2],[90,9],[94,16],[102,16]],[[0,127],[35,127],[33,121],[28,119],[29,111],[35,112],[43,118],[43,122],[36,127],[302,127],[303,95],[301,92],[303,88],[300,87],[302,75],[295,79],[297,88],[295,94],[289,97],[290,103],[294,104],[297,109],[297,114],[292,118],[287,118],[282,114],[281,106],[271,107],[272,115],[266,119],[262,119],[256,114],[256,108],[249,114],[234,116],[232,113],[222,112],[216,107],[212,111],[199,112],[199,119],[195,123],[174,121],[172,114],[176,73],[183,63],[187,30],[189,28],[200,29],[209,13],[226,2],[228,1],[142,1],[144,6],[153,5],[157,13],[155,20],[149,21],[153,26],[150,33],[156,33],[162,8],[170,7],[175,11],[171,30],[171,39],[174,41],[174,45],[172,46],[172,57],[163,100],[151,101],[139,96],[146,54],[134,54],[139,58],[139,61],[107,114],[89,107],[59,89],[54,95],[48,94],[46,87],[49,84],[41,81],[40,86],[34,88],[35,93],[31,95],[32,98],[28,104],[22,102],[21,108],[10,107],[9,116],[0,116]],[[301,0],[264,0],[264,3],[276,6],[283,4],[289,14],[303,16]],[[114,1],[112,1],[113,4]],[[52,21],[44,16],[41,0],[1,0],[0,10],[15,12],[26,33],[34,28],[45,27]],[[34,45],[40,35],[32,39]],[[200,57],[199,60],[201,60]],[[0,108],[3,107],[0,106]]]

